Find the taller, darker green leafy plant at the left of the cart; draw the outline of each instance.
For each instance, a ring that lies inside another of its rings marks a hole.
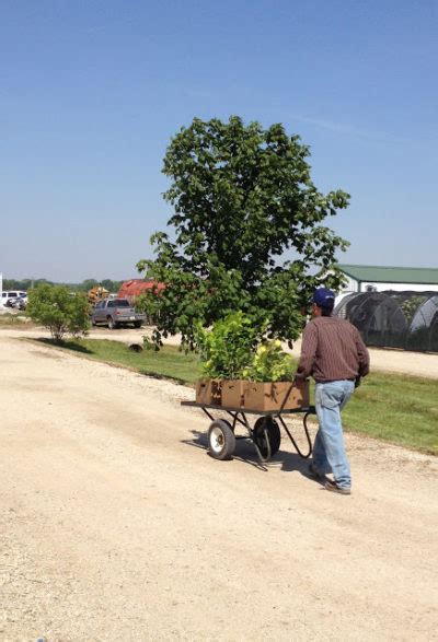
[[[252,363],[264,327],[254,328],[242,312],[216,322],[210,330],[196,326],[195,340],[200,354],[201,373],[208,378],[242,378]]]

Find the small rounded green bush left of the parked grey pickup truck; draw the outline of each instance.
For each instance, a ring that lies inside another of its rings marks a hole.
[[[89,329],[89,303],[84,294],[76,294],[66,285],[43,283],[28,292],[26,314],[48,328],[55,340],[66,334],[85,335]]]

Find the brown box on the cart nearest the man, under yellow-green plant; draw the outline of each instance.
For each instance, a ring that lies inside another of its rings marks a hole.
[[[251,410],[279,410],[292,382],[243,382],[243,407]],[[285,410],[309,406],[309,382],[295,383]]]

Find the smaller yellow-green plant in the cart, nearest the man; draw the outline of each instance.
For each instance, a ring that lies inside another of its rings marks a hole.
[[[249,367],[243,370],[243,378],[253,382],[291,381],[296,371],[293,359],[281,348],[281,342],[264,341],[253,357]]]

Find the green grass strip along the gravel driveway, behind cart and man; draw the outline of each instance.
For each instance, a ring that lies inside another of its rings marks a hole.
[[[46,343],[53,345],[50,340]],[[118,341],[66,341],[62,349],[129,367],[141,374],[193,384],[199,378],[196,354],[174,346],[160,352],[132,352]],[[313,398],[313,386],[311,398]],[[438,381],[399,374],[371,374],[343,412],[346,430],[438,455]]]

